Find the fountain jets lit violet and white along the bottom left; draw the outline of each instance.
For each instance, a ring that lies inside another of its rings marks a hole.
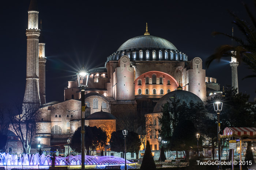
[[[39,154],[12,155],[9,153],[0,153],[0,166],[50,166],[52,165],[52,156]],[[85,156],[85,165],[119,165],[124,164],[125,160],[114,156]],[[127,161],[127,163],[131,163]],[[55,157],[55,165],[81,165],[81,155],[68,157]]]

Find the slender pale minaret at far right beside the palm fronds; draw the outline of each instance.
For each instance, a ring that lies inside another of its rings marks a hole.
[[[232,27],[232,47],[234,47],[234,27]],[[237,77],[237,66],[238,62],[237,59],[233,56],[236,56],[236,51],[231,51],[232,56],[231,56],[231,62],[230,62],[230,67],[231,67],[231,74],[232,74],[232,87],[234,89],[237,88],[237,93],[238,93],[238,77]]]

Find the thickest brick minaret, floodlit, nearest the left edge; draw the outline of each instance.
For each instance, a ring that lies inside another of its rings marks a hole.
[[[27,35],[27,74],[26,89],[23,103],[40,104],[39,84],[38,84],[38,38],[40,31],[38,29],[38,8],[37,1],[31,0],[29,5],[29,20]]]

